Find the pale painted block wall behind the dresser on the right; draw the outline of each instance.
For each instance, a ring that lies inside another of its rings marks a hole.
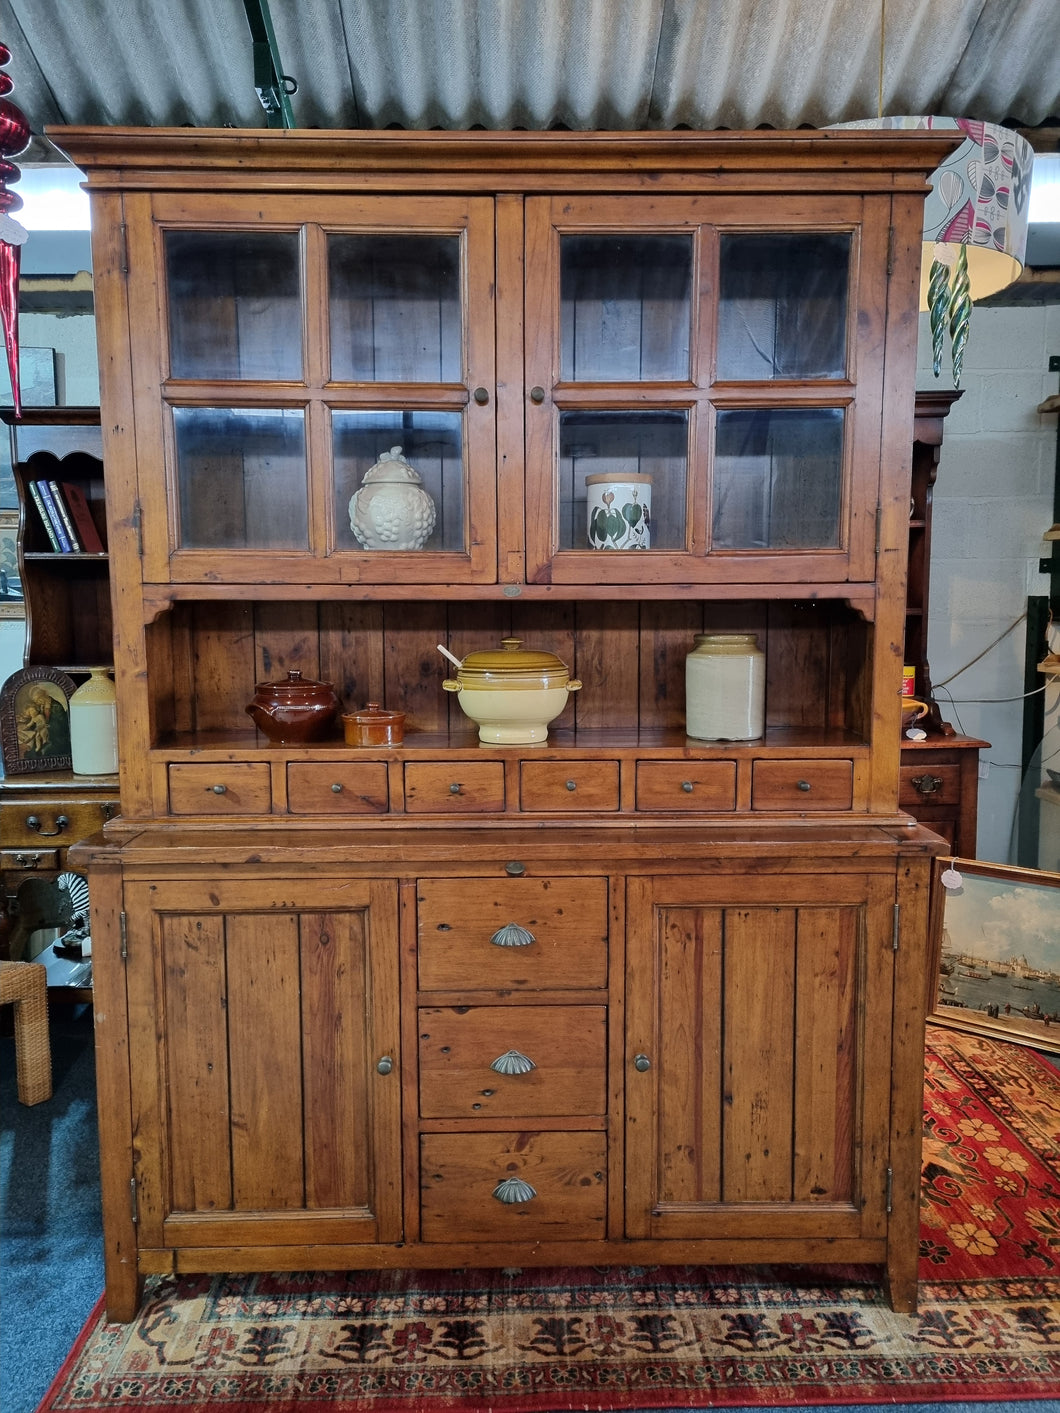
[[[1049,592],[1039,560],[1047,551],[1042,534],[1053,523],[1057,414],[1040,414],[1037,404],[1060,386],[1049,372],[1050,355],[1060,355],[1060,305],[972,309],[964,396],[946,421],[934,489],[927,654],[943,716],[991,743],[981,756],[977,855],[996,863],[1015,862],[1013,822],[1025,784],[1026,625],[1006,630],[1029,596]],[[917,387],[953,387],[948,357],[947,338],[936,379],[921,315]],[[1001,642],[991,646],[995,639]],[[1056,684],[1047,687],[1046,706],[1043,759],[1049,763],[1052,755],[1060,767]]]

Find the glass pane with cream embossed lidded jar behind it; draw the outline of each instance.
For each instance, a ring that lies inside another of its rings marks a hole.
[[[334,413],[331,421],[336,550],[464,552],[459,413]]]

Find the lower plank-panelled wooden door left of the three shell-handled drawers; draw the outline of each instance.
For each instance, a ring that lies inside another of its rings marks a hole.
[[[400,1236],[393,883],[126,885],[140,1246]]]

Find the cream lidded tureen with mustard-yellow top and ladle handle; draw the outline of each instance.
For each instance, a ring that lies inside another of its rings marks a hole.
[[[548,739],[548,722],[581,690],[555,653],[524,649],[517,637],[502,639],[500,650],[468,653],[455,680],[442,682],[458,692],[461,711],[478,723],[479,740],[490,746],[533,746]]]

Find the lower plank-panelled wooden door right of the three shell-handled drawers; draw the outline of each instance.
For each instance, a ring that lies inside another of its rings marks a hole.
[[[883,1235],[893,877],[628,887],[628,1235]]]

